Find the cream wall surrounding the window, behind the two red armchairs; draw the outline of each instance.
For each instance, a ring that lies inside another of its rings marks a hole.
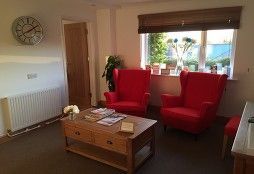
[[[123,6],[116,10],[116,45],[117,54],[124,59],[128,68],[140,67],[140,36],[137,32],[139,14],[169,12],[191,9],[204,9],[228,6],[244,6],[241,29],[238,31],[235,57],[236,81],[228,81],[226,92],[220,104],[219,114],[241,113],[246,100],[254,101],[254,58],[252,30],[254,28],[254,2],[251,0],[172,0],[161,3],[143,3]],[[250,68],[250,72],[247,72]],[[179,93],[179,78],[152,76],[152,105],[161,105],[161,93]],[[101,87],[101,91],[106,89]],[[103,98],[101,98],[103,100]]]

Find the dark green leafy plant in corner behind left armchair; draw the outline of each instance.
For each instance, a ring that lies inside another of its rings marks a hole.
[[[109,91],[115,91],[115,84],[113,79],[113,70],[115,68],[122,68],[122,60],[119,56],[108,56],[107,64],[105,65],[105,70],[102,77],[106,77],[106,83],[108,85]]]

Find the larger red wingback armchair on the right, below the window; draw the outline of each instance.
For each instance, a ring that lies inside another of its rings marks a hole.
[[[164,128],[169,125],[196,135],[201,133],[216,118],[226,82],[225,74],[182,71],[180,96],[161,95]]]

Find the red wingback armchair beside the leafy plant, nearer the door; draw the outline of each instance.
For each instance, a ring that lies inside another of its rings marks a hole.
[[[115,92],[105,92],[106,107],[144,117],[149,102],[150,70],[114,69]]]

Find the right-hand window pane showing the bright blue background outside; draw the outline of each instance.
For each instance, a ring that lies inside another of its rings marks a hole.
[[[232,40],[234,30],[208,30],[206,45],[206,70],[217,68],[217,73],[230,72],[230,60],[232,57]]]

